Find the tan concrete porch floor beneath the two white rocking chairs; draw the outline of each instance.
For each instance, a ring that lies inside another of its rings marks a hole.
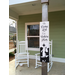
[[[15,69],[15,60],[9,62],[9,75],[41,75],[41,67],[35,69],[35,60],[29,60],[30,67],[27,65],[18,66]],[[65,75],[65,63],[53,62],[52,69],[48,75]]]

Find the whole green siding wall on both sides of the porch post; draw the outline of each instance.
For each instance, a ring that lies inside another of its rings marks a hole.
[[[65,58],[65,11],[49,12],[49,39],[53,40],[53,57]],[[18,39],[25,40],[25,23],[41,22],[42,15],[22,15],[18,20]],[[31,55],[37,51],[29,51]],[[39,51],[38,51],[39,52]]]

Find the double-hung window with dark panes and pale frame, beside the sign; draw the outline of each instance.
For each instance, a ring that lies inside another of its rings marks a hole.
[[[26,23],[26,40],[29,50],[39,49],[39,23]]]

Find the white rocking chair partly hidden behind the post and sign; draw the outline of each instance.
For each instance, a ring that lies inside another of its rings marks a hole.
[[[36,63],[35,68],[38,68],[39,66],[42,66],[42,63],[40,62],[40,53],[36,53]],[[53,62],[52,62],[52,40],[49,41],[49,63],[47,63],[47,72],[49,72],[52,68]]]

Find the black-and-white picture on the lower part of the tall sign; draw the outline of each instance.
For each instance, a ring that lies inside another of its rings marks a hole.
[[[43,47],[40,47],[40,61],[49,62],[49,48],[43,44]]]

